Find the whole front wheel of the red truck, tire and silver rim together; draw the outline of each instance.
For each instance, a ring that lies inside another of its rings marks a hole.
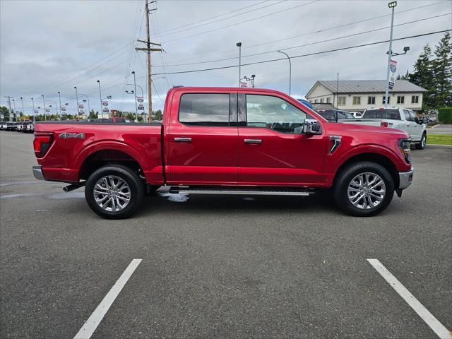
[[[388,170],[374,162],[357,162],[343,169],[335,179],[336,204],[350,215],[370,217],[381,213],[394,195]]]

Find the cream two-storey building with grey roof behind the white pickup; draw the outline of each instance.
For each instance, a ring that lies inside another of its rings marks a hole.
[[[331,103],[349,112],[384,107],[386,80],[316,81],[306,97],[312,104]],[[389,91],[388,107],[405,107],[415,112],[422,109],[424,88],[406,80],[396,80]]]

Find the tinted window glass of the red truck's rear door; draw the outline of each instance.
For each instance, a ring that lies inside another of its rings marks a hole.
[[[179,104],[179,121],[186,125],[229,126],[230,95],[187,93]]]

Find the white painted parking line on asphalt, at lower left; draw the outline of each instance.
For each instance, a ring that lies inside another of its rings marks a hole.
[[[107,314],[108,309],[112,306],[114,299],[117,298],[119,292],[121,292],[122,287],[126,285],[127,280],[133,274],[133,271],[138,267],[141,263],[141,259],[133,259],[129,266],[127,266],[124,273],[121,274],[117,282],[113,285],[112,289],[109,290],[107,295],[105,295],[102,302],[100,302],[99,306],[94,310],[93,314],[88,318],[83,327],[78,331],[73,339],[89,339],[91,335],[93,335],[97,326],[99,326],[100,321],[104,318],[105,314]]]

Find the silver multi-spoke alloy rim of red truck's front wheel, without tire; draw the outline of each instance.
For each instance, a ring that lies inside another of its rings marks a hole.
[[[378,174],[361,173],[348,184],[347,196],[350,203],[357,208],[374,208],[386,196],[386,185]]]

